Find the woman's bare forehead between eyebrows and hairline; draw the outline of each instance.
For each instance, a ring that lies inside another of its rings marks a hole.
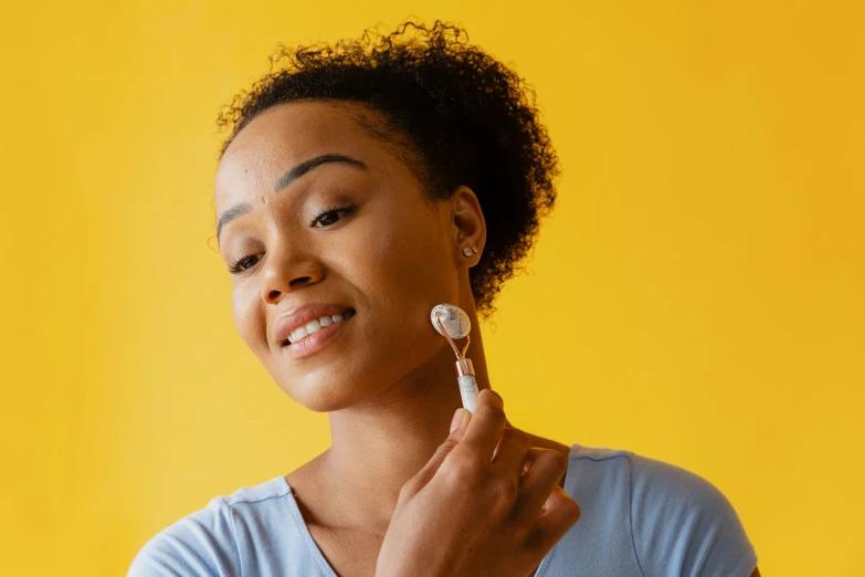
[[[381,141],[358,124],[372,113],[355,103],[319,101],[279,104],[244,126],[229,145],[217,169],[217,212],[236,202],[273,193],[289,168],[312,157],[341,154],[370,167],[387,164]]]

